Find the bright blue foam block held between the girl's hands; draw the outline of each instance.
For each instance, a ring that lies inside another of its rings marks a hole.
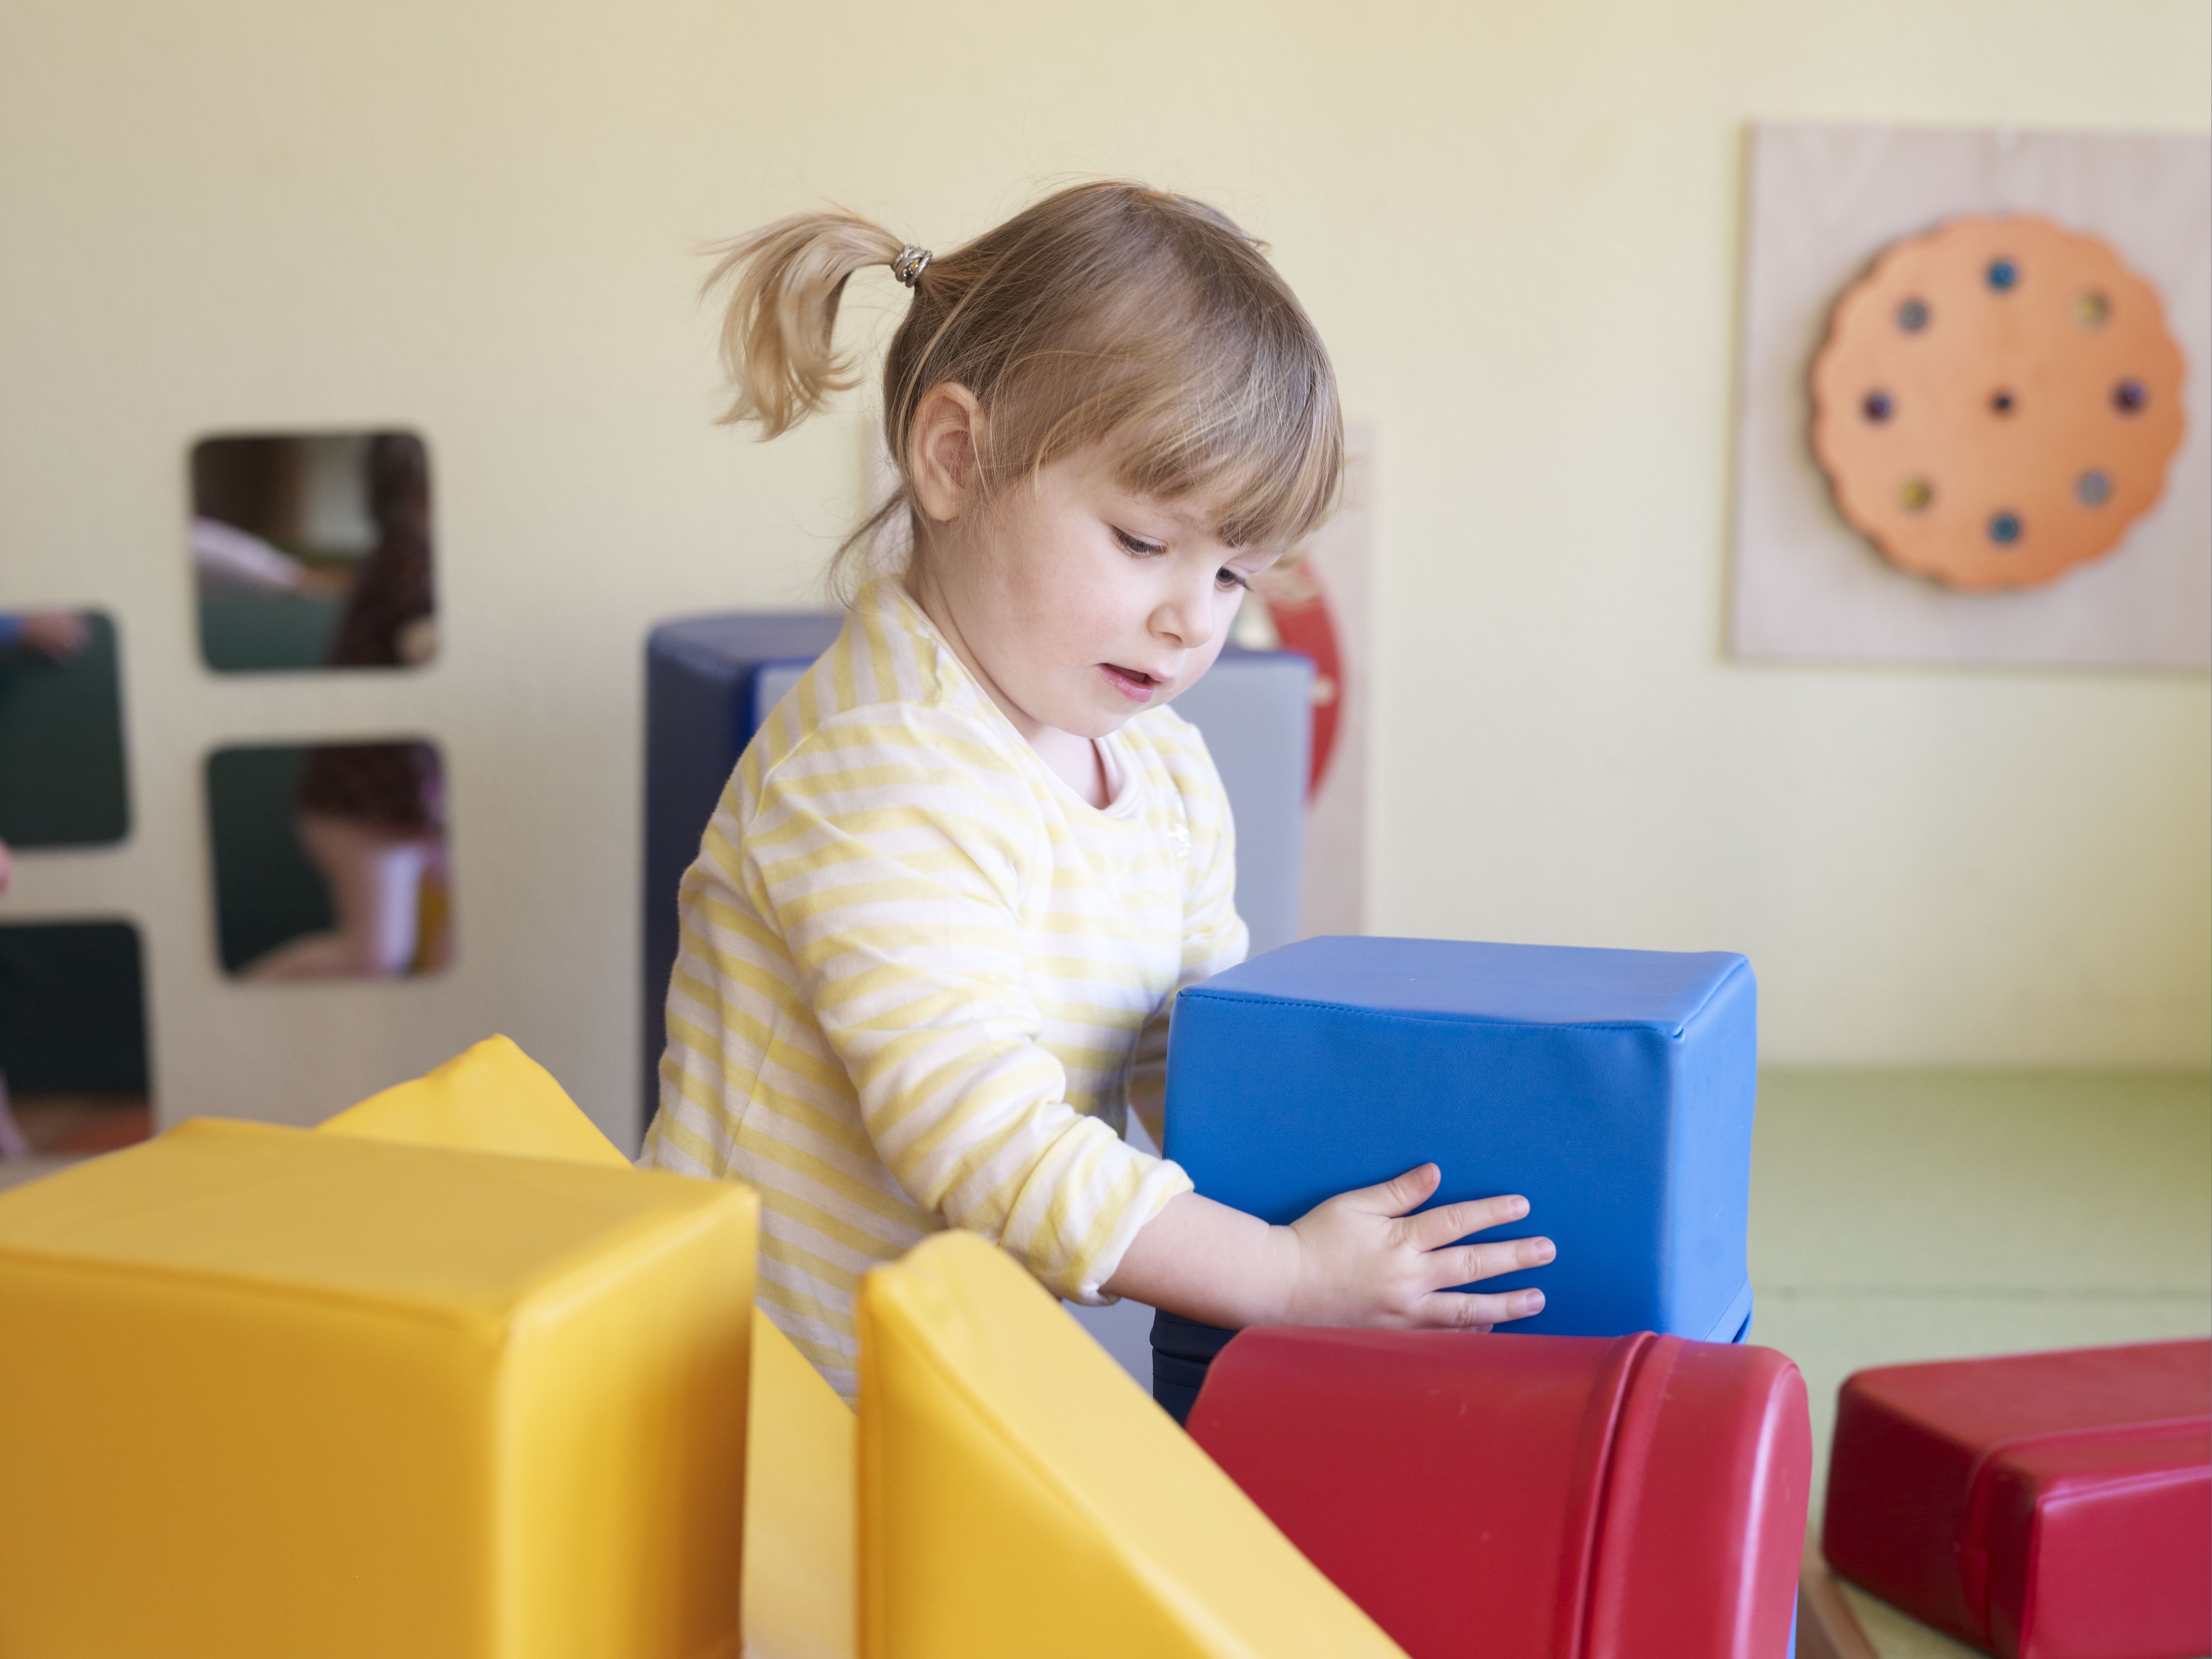
[[[1723,951],[1303,940],[1177,998],[1166,1150],[1265,1221],[1433,1161],[1559,1245],[1480,1285],[1544,1292],[1500,1329],[1741,1340],[1756,1024]]]

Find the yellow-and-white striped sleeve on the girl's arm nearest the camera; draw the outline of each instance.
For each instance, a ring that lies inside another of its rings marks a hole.
[[[898,703],[836,717],[763,776],[743,880],[907,1197],[1102,1303],[1190,1179],[1068,1106],[1037,1040],[1022,907],[1048,860],[991,734]]]

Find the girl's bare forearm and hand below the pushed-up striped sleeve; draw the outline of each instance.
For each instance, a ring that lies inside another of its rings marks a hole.
[[[1551,1239],[1455,1243],[1528,1214],[1528,1199],[1447,1203],[1422,1164],[1394,1181],[1343,1192],[1287,1228],[1179,1192],[1146,1221],[1104,1290],[1206,1325],[1385,1325],[1489,1329],[1544,1307],[1542,1290],[1458,1292],[1478,1279],[1540,1267]]]

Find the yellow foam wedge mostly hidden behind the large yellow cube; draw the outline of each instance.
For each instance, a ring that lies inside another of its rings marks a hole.
[[[507,1037],[352,1106],[323,1128],[387,1141],[628,1168],[568,1093]],[[754,1310],[745,1455],[745,1652],[852,1659],[854,1418]]]

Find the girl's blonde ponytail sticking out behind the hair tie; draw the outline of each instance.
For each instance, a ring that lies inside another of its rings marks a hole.
[[[761,438],[790,431],[832,394],[860,383],[836,354],[836,307],[867,265],[889,265],[905,243],[849,212],[796,212],[714,243],[701,294],[728,285],[721,363],[730,378],[723,422],[757,420]]]

